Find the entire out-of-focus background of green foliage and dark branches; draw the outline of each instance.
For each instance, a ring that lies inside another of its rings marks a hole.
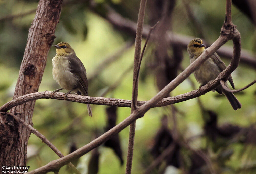
[[[236,89],[256,77],[256,20],[250,3],[254,2],[233,1],[232,5],[232,22],[241,33],[242,49],[251,56],[251,62],[241,60],[232,73]],[[139,4],[138,0],[63,1],[54,44],[66,41],[75,50],[86,67],[89,96],[131,100]],[[37,5],[34,0],[0,1],[0,105],[12,100]],[[200,37],[210,46],[219,37],[225,5],[223,0],[148,0],[144,32],[160,23],[142,60],[138,100],[151,99],[189,65],[186,45],[191,39]],[[143,36],[142,47],[146,34]],[[224,48],[232,49],[232,41]],[[59,88],[52,78],[51,59],[55,54],[52,47],[39,91]],[[228,65],[231,57],[221,58]],[[191,75],[170,96],[198,87]],[[146,112],[136,121],[132,173],[255,173],[256,87],[235,95],[242,104],[237,111],[224,96],[209,92],[199,99]],[[89,117],[84,104],[40,99],[36,101],[33,127],[67,155],[130,115],[130,108],[122,107],[92,105],[92,111],[93,117]],[[128,136],[127,127],[73,164],[81,173],[124,173]],[[150,168],[161,154],[166,156]],[[30,170],[57,158],[31,134],[27,151]],[[68,172],[66,166],[60,170]]]

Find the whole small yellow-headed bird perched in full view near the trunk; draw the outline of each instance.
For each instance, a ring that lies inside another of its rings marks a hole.
[[[68,90],[64,94],[64,99],[71,91],[76,91],[77,95],[88,96],[86,70],[75,51],[67,42],[60,42],[53,46],[56,47],[56,55],[52,58],[52,75],[61,88],[53,91],[51,96],[62,89]],[[88,114],[92,116],[90,104],[86,105]]]

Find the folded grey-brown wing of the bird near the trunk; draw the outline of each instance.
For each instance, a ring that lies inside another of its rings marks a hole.
[[[70,62],[70,72],[75,74],[78,79],[80,85],[78,87],[84,95],[88,96],[88,80],[86,78],[86,70],[83,63],[76,55],[73,54],[68,55],[68,61]]]

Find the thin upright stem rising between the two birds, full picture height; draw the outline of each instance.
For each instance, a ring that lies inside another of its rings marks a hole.
[[[142,31],[143,31],[146,2],[147,0],[141,0],[139,14],[138,14],[138,22],[137,22],[137,30],[136,30],[136,38],[135,38],[135,51],[134,51],[131,113],[133,113],[134,110],[136,110],[137,108],[138,79],[136,80],[136,76],[139,73],[138,70],[140,70],[139,62],[140,62],[140,55],[141,55],[141,41],[142,41]],[[129,131],[129,142],[128,142],[128,152],[127,152],[126,172],[125,172],[126,174],[131,174],[131,171],[132,171],[135,126],[136,126],[136,122],[134,121],[130,125],[130,131]]]

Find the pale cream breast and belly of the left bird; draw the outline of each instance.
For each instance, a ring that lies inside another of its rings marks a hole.
[[[77,86],[77,79],[70,72],[69,61],[64,56],[52,58],[52,75],[54,80],[66,90],[71,90]]]

